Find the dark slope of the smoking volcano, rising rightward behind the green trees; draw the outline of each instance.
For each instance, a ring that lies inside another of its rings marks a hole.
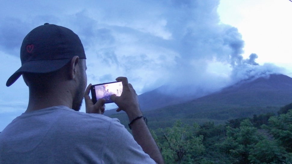
[[[181,119],[187,123],[213,121],[225,123],[229,119],[252,117],[253,114],[277,112],[292,102],[292,78],[272,74],[253,81],[241,82],[189,102],[170,105],[144,115],[152,128],[170,126]],[[125,115],[112,115],[127,122]]]

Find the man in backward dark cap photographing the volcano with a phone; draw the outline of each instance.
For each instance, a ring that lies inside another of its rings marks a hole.
[[[104,99],[93,104],[91,84],[85,89],[85,52],[73,31],[36,27],[24,38],[20,58],[22,66],[6,85],[23,75],[29,103],[0,133],[0,163],[163,163],[126,77],[116,78],[123,93],[111,99],[127,113],[133,135],[102,115]],[[86,113],[78,112],[83,95]]]

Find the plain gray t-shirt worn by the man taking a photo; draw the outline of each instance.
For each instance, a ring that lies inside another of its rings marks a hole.
[[[0,133],[0,163],[155,163],[119,120],[55,106]]]

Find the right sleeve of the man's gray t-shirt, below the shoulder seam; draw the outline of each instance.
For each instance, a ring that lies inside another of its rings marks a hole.
[[[156,163],[117,119],[112,119],[104,141],[105,163]]]

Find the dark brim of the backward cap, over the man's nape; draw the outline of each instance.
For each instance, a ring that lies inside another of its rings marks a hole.
[[[48,73],[57,71],[66,65],[71,59],[39,60],[24,63],[6,82],[6,86],[11,86],[23,73]]]

